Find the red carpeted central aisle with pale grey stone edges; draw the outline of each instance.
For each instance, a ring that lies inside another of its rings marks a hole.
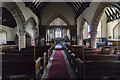
[[[56,45],[55,49],[62,48],[61,45]],[[47,68],[42,76],[43,79],[72,79],[76,78],[75,74],[69,64],[65,52],[61,50],[54,50],[51,55]]]

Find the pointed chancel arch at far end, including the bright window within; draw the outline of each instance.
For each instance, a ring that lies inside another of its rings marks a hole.
[[[67,19],[61,15],[55,15],[50,21],[48,22],[49,29],[47,29],[47,38],[52,40],[54,38],[67,38],[70,39],[70,30],[68,26],[70,23]]]

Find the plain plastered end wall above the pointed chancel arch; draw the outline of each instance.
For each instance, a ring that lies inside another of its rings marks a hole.
[[[71,25],[75,25],[75,14],[67,3],[48,3],[41,11],[41,24],[47,25],[48,21],[56,14],[64,16]]]

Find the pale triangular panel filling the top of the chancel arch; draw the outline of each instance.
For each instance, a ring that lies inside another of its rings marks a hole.
[[[62,20],[61,18],[57,17],[56,19],[54,19],[49,26],[67,26],[67,24],[65,23],[64,20]]]

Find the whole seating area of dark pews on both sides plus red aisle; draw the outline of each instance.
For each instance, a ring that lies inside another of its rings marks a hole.
[[[5,50],[2,80],[119,80],[120,55],[80,45]],[[34,57],[35,58],[34,58]],[[27,57],[27,58],[26,58]],[[34,60],[35,59],[35,60]],[[8,66],[9,65],[9,66]]]

